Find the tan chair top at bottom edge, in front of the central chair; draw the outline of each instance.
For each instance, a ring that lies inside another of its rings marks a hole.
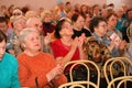
[[[90,85],[92,88],[99,88],[96,84],[91,81],[72,81],[61,85],[58,88],[86,88],[85,85]]]

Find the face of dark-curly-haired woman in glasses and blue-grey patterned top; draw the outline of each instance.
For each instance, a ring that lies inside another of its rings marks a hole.
[[[98,28],[96,28],[95,30],[95,33],[100,35],[100,36],[103,36],[105,34],[107,34],[107,23],[105,21],[101,21],[99,24],[98,24]]]

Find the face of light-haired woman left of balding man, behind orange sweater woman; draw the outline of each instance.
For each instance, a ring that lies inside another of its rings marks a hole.
[[[25,29],[25,20],[24,19],[19,19],[14,29],[18,32],[21,32],[23,29]]]

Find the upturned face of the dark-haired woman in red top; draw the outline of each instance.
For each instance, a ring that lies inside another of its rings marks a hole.
[[[64,24],[62,25],[62,30],[59,31],[61,36],[65,35],[65,36],[72,36],[74,34],[73,32],[73,25],[70,22],[64,22]]]

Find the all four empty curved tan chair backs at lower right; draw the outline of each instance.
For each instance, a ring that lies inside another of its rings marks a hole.
[[[94,88],[99,88],[100,86],[100,69],[98,67],[98,65],[96,63],[94,63],[92,61],[73,61],[69,62],[65,65],[65,68],[67,66],[72,65],[70,70],[69,70],[69,78],[70,78],[70,82],[64,84],[58,88],[90,88],[91,86]],[[87,80],[79,80],[79,81],[74,81],[74,77],[73,77],[73,69],[75,67],[77,67],[78,65],[82,65],[84,67],[86,67],[87,69]],[[120,66],[120,70],[123,73],[123,76],[121,77],[116,77],[114,78],[114,72],[113,67],[114,66]],[[97,70],[97,82],[92,82],[90,81],[90,70],[91,70],[91,66],[96,68]],[[132,67],[132,61],[130,61],[128,57],[113,57],[108,59],[105,65],[103,65],[103,75],[105,78],[107,80],[108,84],[108,88],[120,88],[121,84],[125,84],[124,88],[127,88],[127,82],[125,81],[131,81],[132,84],[132,76],[130,76],[130,72],[129,68]],[[119,81],[119,85],[114,86],[116,81]],[[86,84],[84,86],[84,84]]]

